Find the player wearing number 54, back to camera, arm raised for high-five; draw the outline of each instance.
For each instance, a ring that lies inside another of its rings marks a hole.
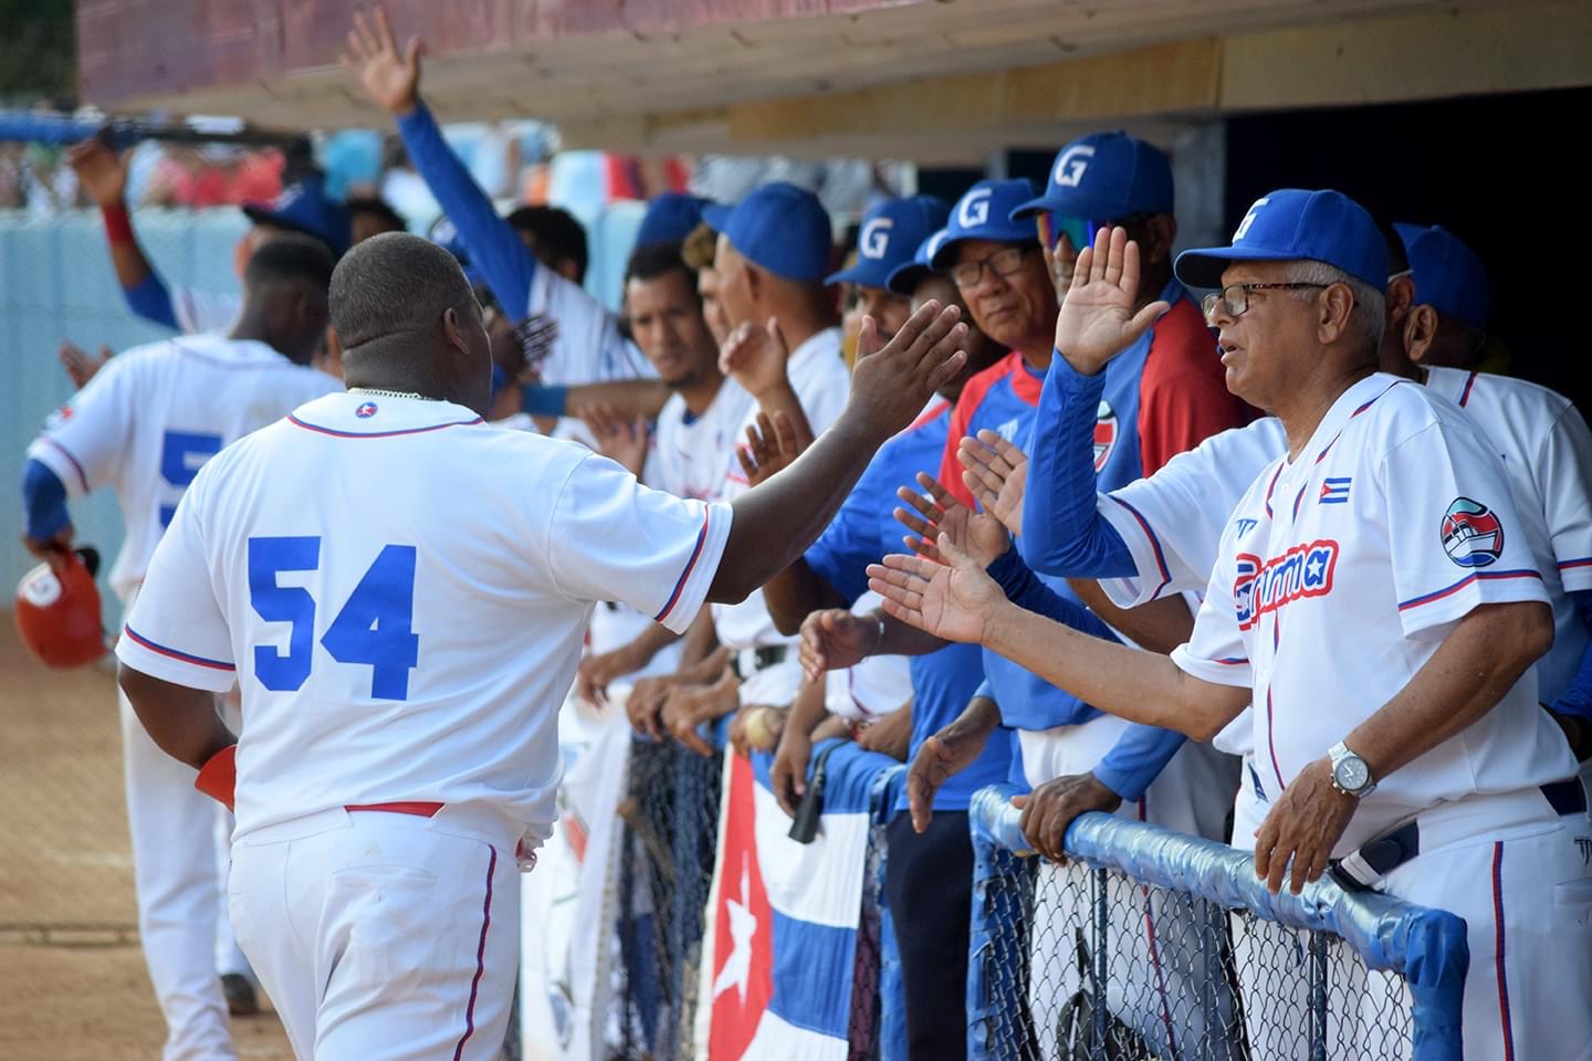
[[[955,317],[927,305],[807,453],[704,504],[484,425],[487,336],[447,251],[387,234],[339,262],[350,391],[199,472],[118,647],[154,741],[202,791],[236,787],[234,924],[298,1056],[497,1050],[514,864],[552,824],[554,716],[592,603],[680,632],[790,563],[960,371]],[[210,706],[234,678],[239,738]]]

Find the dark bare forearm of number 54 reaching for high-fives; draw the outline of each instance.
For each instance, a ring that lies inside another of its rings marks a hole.
[[[860,420],[847,407],[790,468],[734,499],[736,517],[708,600],[745,600],[818,539],[885,441]]]

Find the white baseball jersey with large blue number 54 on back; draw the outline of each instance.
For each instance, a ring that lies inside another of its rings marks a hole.
[[[204,468],[124,663],[244,698],[237,838],[349,803],[487,805],[544,838],[592,604],[677,633],[731,509],[468,409],[333,394]]]

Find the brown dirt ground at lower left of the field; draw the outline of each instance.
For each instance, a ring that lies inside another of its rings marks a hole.
[[[49,671],[0,612],[0,1058],[159,1058],[143,967],[108,668]],[[239,1058],[290,1061],[271,1013]]]

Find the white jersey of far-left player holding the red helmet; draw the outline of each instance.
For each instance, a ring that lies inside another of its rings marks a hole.
[[[188,336],[111,358],[27,455],[81,496],[116,488],[127,525],[110,585],[139,587],[161,533],[199,468],[223,447],[342,382],[263,342]]]

